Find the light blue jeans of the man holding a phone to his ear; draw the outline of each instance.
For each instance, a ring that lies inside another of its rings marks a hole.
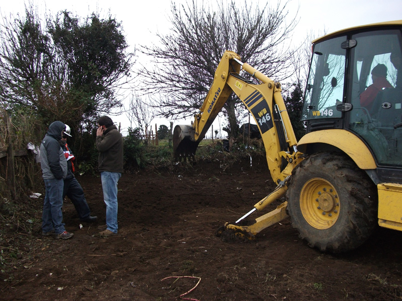
[[[104,192],[104,201],[106,204],[106,225],[107,229],[117,233],[117,183],[121,173],[102,172],[102,189]]]

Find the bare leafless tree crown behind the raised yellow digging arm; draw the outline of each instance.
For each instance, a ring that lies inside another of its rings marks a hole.
[[[293,51],[285,44],[297,22],[286,24],[287,4],[259,8],[246,1],[242,7],[222,1],[213,10],[194,0],[180,7],[172,3],[170,33],[157,34],[158,44],[141,48],[154,63],[153,68],[147,65],[141,70],[142,91],[162,95],[153,103],[158,116],[192,115],[202,105],[225,50],[235,51],[275,80],[289,77]],[[224,106],[232,132],[241,114],[240,103],[232,95]]]

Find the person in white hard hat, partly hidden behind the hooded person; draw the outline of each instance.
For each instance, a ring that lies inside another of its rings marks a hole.
[[[67,144],[67,136],[71,137],[70,133],[71,129],[66,124],[66,130],[63,132],[60,140],[60,145],[63,148],[64,156],[67,160],[67,176],[64,179],[63,200],[65,196],[67,196],[71,200],[81,221],[93,223],[96,221],[97,217],[91,216],[91,211],[89,209],[88,203],[86,202],[84,191],[74,176],[75,156],[73,155],[71,149],[68,147]]]

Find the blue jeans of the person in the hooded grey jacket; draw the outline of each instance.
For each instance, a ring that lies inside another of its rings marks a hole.
[[[42,213],[42,231],[50,232],[54,230],[56,234],[65,231],[63,223],[63,179],[43,180],[45,182],[45,201]]]

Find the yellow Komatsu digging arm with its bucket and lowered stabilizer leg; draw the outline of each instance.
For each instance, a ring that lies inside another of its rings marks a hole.
[[[240,75],[244,71],[254,81]],[[255,83],[256,82],[256,83]],[[249,214],[262,210],[274,200],[281,198],[287,189],[286,182],[291,171],[300,161],[297,140],[281,95],[280,84],[242,63],[240,56],[226,51],[215,72],[214,82],[199,112],[194,115],[191,125],[176,125],[173,131],[173,150],[176,158],[194,156],[198,143],[204,138],[218,113],[222,110],[231,93],[234,92],[252,114],[261,133],[266,151],[268,168],[278,187],[270,195],[254,205]],[[286,217],[286,202],[278,206],[277,212],[260,217],[252,226],[225,225],[236,235],[249,234],[253,237],[267,226]]]

